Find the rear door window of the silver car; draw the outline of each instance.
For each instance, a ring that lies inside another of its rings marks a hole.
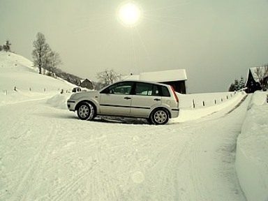
[[[159,96],[159,90],[156,84],[138,82],[134,94],[141,96]]]

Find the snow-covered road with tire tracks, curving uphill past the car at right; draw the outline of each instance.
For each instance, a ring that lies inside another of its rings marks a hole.
[[[165,126],[2,105],[0,200],[245,200],[234,159],[248,99]]]

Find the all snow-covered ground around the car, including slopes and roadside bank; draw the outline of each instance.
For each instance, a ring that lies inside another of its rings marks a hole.
[[[267,93],[179,95],[165,126],[80,121],[70,84],[3,54],[0,200],[267,200]]]

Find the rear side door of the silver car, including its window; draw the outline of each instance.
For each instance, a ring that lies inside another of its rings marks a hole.
[[[158,85],[137,82],[131,101],[131,116],[148,117],[151,108],[161,105],[161,101]]]

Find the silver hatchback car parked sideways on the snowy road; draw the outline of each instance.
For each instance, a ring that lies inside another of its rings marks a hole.
[[[100,91],[78,92],[67,101],[68,110],[82,120],[96,115],[144,118],[151,124],[166,124],[179,116],[179,99],[167,84],[121,81]]]

